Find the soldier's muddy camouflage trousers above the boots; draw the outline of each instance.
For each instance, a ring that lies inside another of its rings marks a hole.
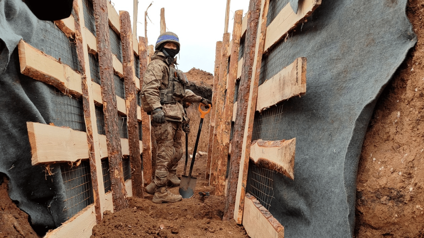
[[[167,183],[168,173],[176,174],[178,162],[183,155],[181,122],[153,122],[152,133],[157,148],[155,183],[162,187]]]

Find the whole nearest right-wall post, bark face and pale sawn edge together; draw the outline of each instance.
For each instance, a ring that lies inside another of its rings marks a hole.
[[[237,108],[237,120],[234,124],[232,140],[231,155],[233,155],[234,151],[234,154],[237,156],[236,158],[232,158],[232,162],[230,162],[230,169],[239,171],[239,176],[238,178],[229,176],[229,186],[237,180],[237,195],[234,201],[235,210],[233,216],[237,224],[241,224],[243,218],[248,160],[250,157],[250,144],[252,141],[268,3],[268,0],[251,0],[249,4],[249,14],[253,16],[249,17],[246,30],[245,47],[248,50],[245,50],[243,56],[245,59],[243,59],[243,72],[240,77],[239,86],[239,96],[241,97],[238,98],[240,105]],[[260,18],[259,14],[261,16]],[[233,201],[228,202],[232,204]]]

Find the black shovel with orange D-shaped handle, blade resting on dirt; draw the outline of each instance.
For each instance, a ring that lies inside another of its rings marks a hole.
[[[194,195],[194,189],[196,187],[196,180],[197,180],[197,178],[191,177],[191,172],[193,171],[194,160],[196,158],[197,145],[199,144],[199,137],[200,137],[200,131],[202,130],[203,119],[205,118],[205,115],[207,113],[209,113],[209,111],[211,111],[211,105],[209,105],[208,111],[203,111],[202,108],[201,108],[202,105],[206,106],[203,103],[200,103],[199,104],[199,111],[201,113],[200,124],[199,124],[199,130],[197,131],[196,143],[194,145],[193,158],[191,159],[191,163],[190,163],[190,170],[188,172],[188,176],[186,176],[185,175],[185,169],[184,169],[184,175],[181,176],[181,183],[180,183],[179,193],[180,193],[180,195],[183,198],[190,198],[190,197],[192,197]],[[186,143],[187,143],[187,136],[186,136]],[[186,154],[186,155],[188,155],[188,154]]]

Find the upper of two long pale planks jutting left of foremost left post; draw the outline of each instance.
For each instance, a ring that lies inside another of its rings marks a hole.
[[[20,71],[23,75],[55,86],[67,95],[82,95],[81,75],[70,66],[32,47],[23,40],[18,44]]]

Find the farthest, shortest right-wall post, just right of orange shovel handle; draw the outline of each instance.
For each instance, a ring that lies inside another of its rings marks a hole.
[[[218,79],[219,79],[219,67],[220,67],[220,59],[221,59],[221,47],[222,42],[216,42],[215,47],[215,69],[214,69],[214,82],[212,87],[212,108],[211,110],[211,116],[210,116],[210,122],[209,122],[209,138],[212,141],[209,141],[208,144],[208,155],[206,159],[206,174],[205,179],[209,179],[210,176],[210,169],[211,169],[211,161],[212,161],[212,148],[213,148],[213,135],[215,131],[215,105],[216,105],[216,90],[218,88]]]

